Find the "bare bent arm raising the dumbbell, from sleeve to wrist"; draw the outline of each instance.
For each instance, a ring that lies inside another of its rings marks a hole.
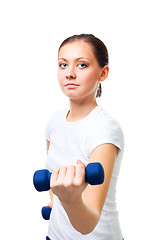
[[[96,147],[90,155],[90,163],[100,162],[104,168],[105,180],[101,185],[87,185],[81,197],[76,201],[63,202],[62,205],[72,226],[82,234],[88,234],[96,227],[103,209],[118,148],[105,143]]]

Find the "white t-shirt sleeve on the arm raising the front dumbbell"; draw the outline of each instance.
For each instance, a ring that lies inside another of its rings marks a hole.
[[[101,121],[92,129],[89,143],[90,153],[94,148],[105,143],[111,143],[122,150],[124,146],[124,137],[119,123],[113,119]]]

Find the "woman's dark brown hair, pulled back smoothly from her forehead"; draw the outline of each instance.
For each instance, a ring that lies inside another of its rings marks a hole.
[[[92,34],[79,34],[79,35],[73,35],[71,37],[68,37],[61,43],[58,53],[61,47],[63,47],[67,43],[71,43],[74,41],[84,41],[89,43],[93,49],[93,54],[97,59],[97,62],[100,67],[104,67],[109,64],[108,50],[105,44],[99,38],[95,37]],[[101,94],[102,94],[102,87],[101,87],[101,83],[99,83],[96,97],[100,97]]]

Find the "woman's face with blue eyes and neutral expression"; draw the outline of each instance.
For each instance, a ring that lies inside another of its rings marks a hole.
[[[63,93],[70,99],[95,97],[103,72],[90,44],[75,41],[65,44],[58,56],[58,80]]]

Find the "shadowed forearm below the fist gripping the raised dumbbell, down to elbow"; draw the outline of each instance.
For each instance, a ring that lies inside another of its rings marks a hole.
[[[61,202],[64,207],[72,226],[81,234],[85,235],[93,231],[96,227],[100,214],[87,206],[82,198],[76,202]]]

